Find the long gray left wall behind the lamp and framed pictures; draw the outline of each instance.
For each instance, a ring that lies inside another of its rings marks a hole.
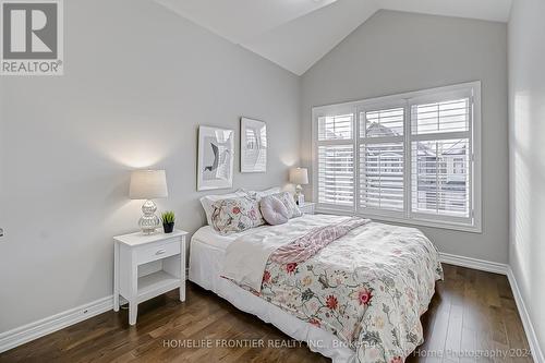
[[[165,168],[178,227],[205,222],[197,125],[267,121],[266,174],[299,160],[300,81],[148,0],[64,1],[65,75],[0,81],[0,332],[112,293],[111,237],[142,202],[129,171]],[[235,161],[239,169],[239,161]],[[226,191],[220,191],[226,192]]]

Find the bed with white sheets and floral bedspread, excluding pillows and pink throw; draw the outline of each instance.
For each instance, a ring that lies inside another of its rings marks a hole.
[[[203,227],[192,237],[189,278],[335,363],[402,362],[423,342],[420,316],[443,278],[436,249],[417,229],[366,221],[300,263],[269,258],[257,289],[225,277],[264,235],[289,240],[342,218],[304,215],[227,235]]]

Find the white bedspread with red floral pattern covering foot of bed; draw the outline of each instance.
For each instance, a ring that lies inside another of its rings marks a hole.
[[[398,363],[423,342],[420,316],[441,278],[421,231],[370,222],[305,262],[269,259],[255,293],[335,334],[359,362]]]

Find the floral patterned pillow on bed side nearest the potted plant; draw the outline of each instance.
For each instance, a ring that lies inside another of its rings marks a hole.
[[[259,204],[247,196],[215,202],[213,208],[211,225],[220,233],[242,232],[265,225]]]

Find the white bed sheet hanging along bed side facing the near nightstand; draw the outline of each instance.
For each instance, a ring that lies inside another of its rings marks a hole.
[[[267,227],[259,227],[262,228]],[[252,231],[246,231],[250,232]],[[221,235],[210,226],[195,232],[191,240],[190,280],[226,299],[237,308],[272,324],[293,339],[311,342],[308,348],[312,351],[332,359],[334,363],[355,362],[355,352],[335,335],[296,318],[220,277],[227,245],[239,235],[241,233]]]

